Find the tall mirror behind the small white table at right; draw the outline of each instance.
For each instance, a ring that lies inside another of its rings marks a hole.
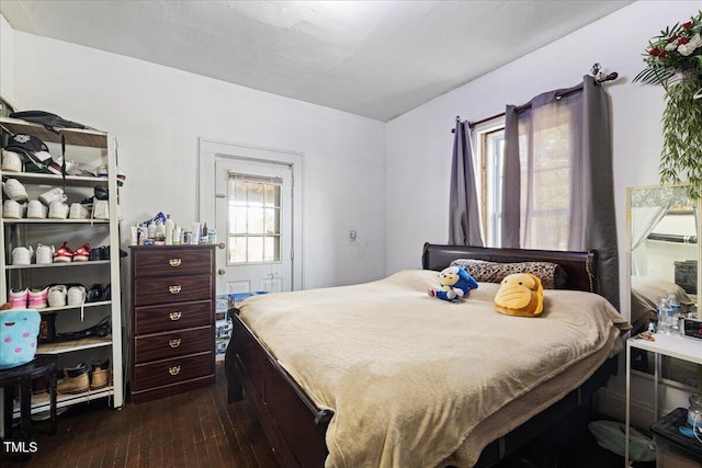
[[[661,299],[679,304],[687,317],[699,318],[700,202],[690,198],[686,186],[630,187],[626,209],[632,335],[657,320]],[[675,326],[670,332],[679,332]],[[632,368],[653,374],[648,353],[632,357]],[[661,364],[661,377],[702,389],[702,366],[675,358]]]

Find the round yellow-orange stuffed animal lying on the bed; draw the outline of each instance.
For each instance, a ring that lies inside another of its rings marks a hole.
[[[536,317],[544,309],[544,288],[531,273],[514,273],[500,283],[495,308],[508,316]]]

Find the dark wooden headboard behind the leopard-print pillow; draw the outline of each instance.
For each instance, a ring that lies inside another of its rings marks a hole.
[[[439,246],[424,243],[421,266],[441,271],[456,259],[486,260],[488,262],[552,262],[557,263],[568,275],[566,289],[598,292],[597,251],[570,252],[561,250],[495,249],[468,246]]]

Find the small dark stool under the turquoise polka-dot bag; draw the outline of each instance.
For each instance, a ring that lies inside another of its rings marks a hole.
[[[32,432],[32,381],[39,377],[48,377],[50,431],[52,434],[56,434],[56,356],[53,354],[37,354],[33,361],[26,364],[10,367],[9,369],[0,369],[0,387],[4,388],[3,437],[5,440],[12,434],[12,387],[14,386],[20,388],[20,430],[22,438],[30,438]]]

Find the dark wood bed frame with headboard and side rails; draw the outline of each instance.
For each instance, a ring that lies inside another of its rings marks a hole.
[[[494,262],[550,261],[568,275],[567,289],[597,293],[597,252],[490,249],[426,243],[424,270],[441,271],[455,259]],[[225,357],[229,402],[246,395],[282,467],[322,467],[328,450],[325,433],[333,412],[319,409],[297,383],[278,364],[267,347],[231,309],[234,333]],[[573,409],[588,402],[616,370],[616,358],[608,359],[578,389],[536,414],[503,437],[490,443],[476,466],[485,467],[511,454]]]

